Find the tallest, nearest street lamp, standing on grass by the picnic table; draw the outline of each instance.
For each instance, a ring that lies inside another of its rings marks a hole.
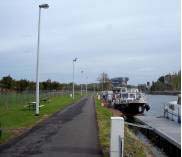
[[[39,49],[40,49],[40,18],[41,9],[48,9],[48,4],[39,5],[38,39],[37,39],[37,65],[36,65],[36,115],[39,115]]]

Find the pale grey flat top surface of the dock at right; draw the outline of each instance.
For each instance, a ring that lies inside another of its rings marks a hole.
[[[136,118],[152,127],[154,132],[181,149],[181,124],[163,117],[136,116]]]

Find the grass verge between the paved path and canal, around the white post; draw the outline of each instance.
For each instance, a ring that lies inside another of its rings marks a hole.
[[[102,107],[99,100],[96,100],[96,113],[99,126],[99,140],[103,150],[103,156],[109,157],[110,118],[112,113],[109,109]],[[127,127],[125,127],[124,156],[146,157],[146,154],[147,152],[144,144],[141,143]]]

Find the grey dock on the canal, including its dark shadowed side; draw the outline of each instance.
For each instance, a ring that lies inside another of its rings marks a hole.
[[[169,157],[181,156],[181,126],[163,117],[136,116],[135,122],[148,126],[139,129]]]

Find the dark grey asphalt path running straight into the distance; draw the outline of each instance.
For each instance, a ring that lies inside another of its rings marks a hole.
[[[44,124],[0,157],[101,157],[95,109],[92,98],[71,105],[46,120]]]

